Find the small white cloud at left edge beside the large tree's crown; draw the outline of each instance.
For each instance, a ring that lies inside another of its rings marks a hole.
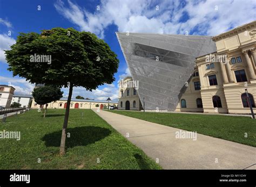
[[[0,62],[6,62],[4,50],[10,49],[10,46],[15,44],[16,40],[6,34],[0,34]]]

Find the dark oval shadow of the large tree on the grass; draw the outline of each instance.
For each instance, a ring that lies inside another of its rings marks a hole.
[[[111,134],[107,128],[84,126],[68,128],[67,134],[70,133],[70,138],[66,138],[66,148],[75,146],[87,146],[91,143],[104,139]],[[46,147],[59,147],[62,131],[56,131],[50,134],[45,134],[42,140]]]

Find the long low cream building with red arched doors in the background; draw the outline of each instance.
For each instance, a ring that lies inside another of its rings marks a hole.
[[[48,108],[50,109],[65,109],[68,98],[61,98],[56,102],[48,103]],[[111,100],[110,102],[103,100],[87,100],[87,99],[71,99],[70,109],[104,109],[107,105],[115,105],[117,106],[118,102]],[[99,107],[96,105],[99,104]],[[31,108],[38,109],[42,107],[35,102],[35,99],[32,100]]]

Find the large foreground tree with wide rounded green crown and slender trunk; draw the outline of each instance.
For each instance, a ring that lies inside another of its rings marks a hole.
[[[43,30],[41,34],[19,34],[16,44],[5,54],[8,69],[14,76],[24,77],[31,83],[69,88],[60,142],[60,154],[65,154],[73,88],[84,87],[91,91],[99,85],[111,84],[118,69],[117,55],[95,34],[59,27]],[[38,62],[40,55],[50,55],[51,60],[48,63]],[[33,56],[38,61],[35,62]]]

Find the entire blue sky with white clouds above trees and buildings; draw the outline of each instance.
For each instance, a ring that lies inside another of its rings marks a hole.
[[[34,85],[12,77],[12,72],[6,70],[3,50],[15,44],[19,32],[73,27],[104,39],[120,60],[116,81],[92,92],[75,88],[73,97],[117,100],[117,82],[130,72],[115,32],[217,35],[255,20],[255,12],[254,0],[0,0],[0,84],[11,84],[15,93],[29,94],[33,90]],[[63,91],[68,95],[67,89]]]

